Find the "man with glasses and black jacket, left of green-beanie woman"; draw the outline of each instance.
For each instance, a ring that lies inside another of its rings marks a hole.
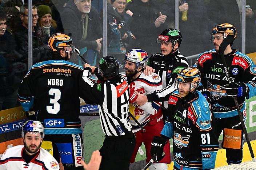
[[[35,5],[32,7],[33,63],[49,60],[48,34],[36,26],[38,14]],[[28,4],[20,7],[22,25],[15,31],[15,38],[20,54],[28,59]]]

